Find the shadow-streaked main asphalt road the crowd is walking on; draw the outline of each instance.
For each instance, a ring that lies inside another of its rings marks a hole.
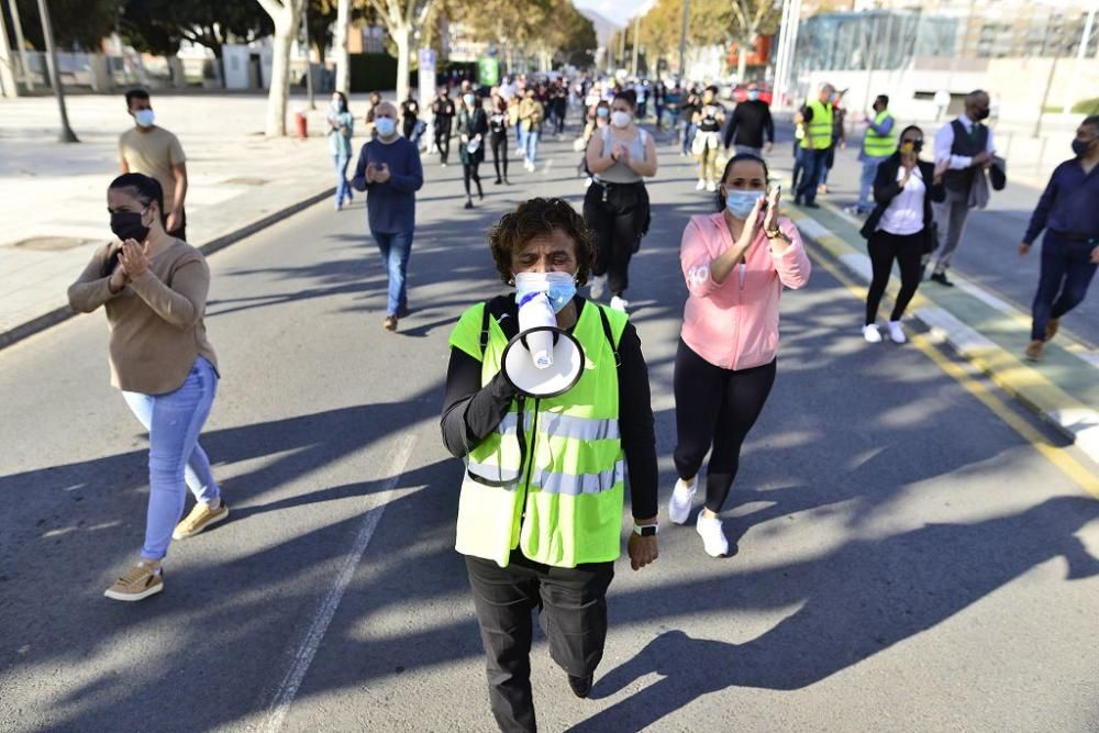
[[[451,325],[502,287],[488,225],[535,193],[579,203],[577,156],[545,148],[510,189],[486,175],[471,212],[460,169],[428,166],[397,334],[357,200],[211,258],[202,443],[232,515],[174,544],[148,601],[102,597],[148,491],[102,314],[0,352],[0,730],[493,730],[437,412]],[[663,515],[677,249],[710,199],[670,155],[651,193],[630,297]],[[655,566],[620,562],[593,699],[536,642],[543,730],[1097,730],[1099,501],[917,347],[868,347],[861,309],[823,267],[787,293],[726,512],[737,554],[665,525]]]

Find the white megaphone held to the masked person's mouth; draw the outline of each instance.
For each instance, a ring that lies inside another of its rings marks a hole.
[[[557,327],[550,298],[529,296],[519,307],[519,334],[503,349],[503,376],[530,397],[557,397],[584,374],[584,348],[573,334]]]

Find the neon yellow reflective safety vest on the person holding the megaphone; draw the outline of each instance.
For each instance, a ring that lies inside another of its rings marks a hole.
[[[469,330],[464,332],[469,337],[466,343],[477,341],[474,332],[479,333],[484,307],[474,307],[476,313],[467,313],[456,326]],[[507,567],[515,547],[528,558],[555,567],[619,556],[625,465],[618,367],[600,308],[586,303],[573,330],[586,360],[580,381],[559,397],[526,398],[522,418],[513,401],[497,430],[469,451],[458,499],[459,553],[501,567]],[[617,343],[626,318],[609,309],[603,312]],[[508,345],[499,324],[489,321],[481,385],[500,370]]]

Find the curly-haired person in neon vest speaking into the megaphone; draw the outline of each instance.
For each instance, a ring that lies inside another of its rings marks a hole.
[[[513,295],[478,303],[451,334],[443,443],[465,460],[456,549],[466,556],[501,731],[535,731],[532,617],[573,692],[591,690],[607,640],[607,589],[621,548],[624,492],[634,570],[657,557],[656,437],[648,370],[621,311],[576,295],[595,247],[562,199],[531,199],[489,233]],[[565,392],[534,398],[501,369],[518,337],[517,297],[545,293],[585,368]]]

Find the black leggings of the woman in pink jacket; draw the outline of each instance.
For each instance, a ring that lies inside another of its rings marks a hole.
[[[720,512],[741,463],[741,445],[755,424],[775,384],[775,365],[722,369],[679,340],[673,382],[676,395],[674,454],[679,478],[698,476],[711,445],[706,470],[706,508]]]

